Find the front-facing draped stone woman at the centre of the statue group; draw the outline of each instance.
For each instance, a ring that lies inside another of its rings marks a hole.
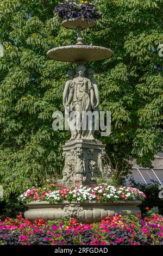
[[[77,68],[78,77],[73,78],[70,85],[68,100],[66,106],[72,106],[73,111],[78,113],[75,115],[75,125],[77,127],[74,132],[73,139],[86,138],[94,139],[89,118],[85,118],[85,113],[95,109],[95,93],[92,82],[85,77],[86,68],[84,65],[79,65]],[[82,129],[82,121],[86,120],[85,127]]]

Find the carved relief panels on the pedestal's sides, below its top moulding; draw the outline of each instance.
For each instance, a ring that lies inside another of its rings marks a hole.
[[[101,150],[74,148],[64,151],[65,166],[62,182],[74,185],[96,183],[97,176],[102,174],[102,163],[99,161]]]

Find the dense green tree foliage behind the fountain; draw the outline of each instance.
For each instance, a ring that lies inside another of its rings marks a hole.
[[[70,133],[53,131],[52,113],[62,107],[66,71],[46,52],[75,44],[77,32],[53,22],[57,0],[0,3],[0,180],[5,197],[17,196],[61,173],[61,146]],[[86,44],[109,47],[114,57],[88,63],[96,70],[101,110],[111,111],[111,135],[97,138],[117,170],[129,160],[151,166],[162,145],[162,0],[101,0],[103,20],[83,32]]]

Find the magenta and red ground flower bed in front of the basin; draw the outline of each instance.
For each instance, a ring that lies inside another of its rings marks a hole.
[[[29,221],[21,215],[0,221],[0,245],[161,245],[163,217],[106,217],[100,223]]]

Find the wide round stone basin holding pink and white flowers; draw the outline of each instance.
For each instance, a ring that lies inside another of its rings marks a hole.
[[[76,218],[82,223],[93,223],[104,220],[106,216],[114,216],[118,214],[126,215],[126,210],[132,214],[140,214],[138,207],[142,202],[139,200],[102,203],[90,202],[74,203],[63,201],[61,203],[50,204],[46,201],[36,200],[26,204],[28,210],[24,212],[24,216],[29,220],[35,218],[44,218],[45,220],[73,219]]]

